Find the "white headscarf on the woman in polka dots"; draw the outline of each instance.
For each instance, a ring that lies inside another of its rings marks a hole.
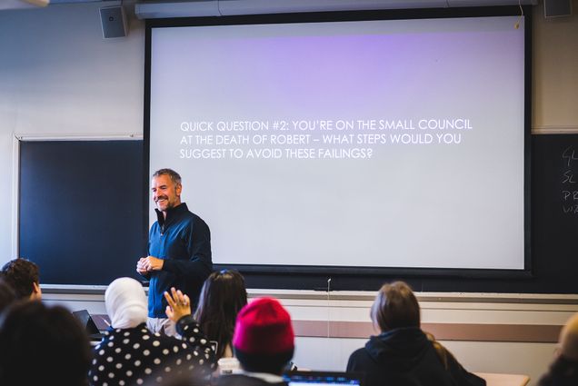
[[[145,289],[130,277],[116,279],[105,292],[106,312],[115,329],[134,328],[146,322],[147,302]]]

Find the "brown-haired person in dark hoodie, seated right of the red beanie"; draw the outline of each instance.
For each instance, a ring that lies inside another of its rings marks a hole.
[[[419,304],[406,283],[384,284],[371,318],[381,333],[354,351],[347,363],[347,371],[365,373],[365,386],[485,385],[483,379],[465,371],[449,351],[436,351],[420,328]]]

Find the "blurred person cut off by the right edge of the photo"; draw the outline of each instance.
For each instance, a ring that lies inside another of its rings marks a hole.
[[[560,333],[556,358],[540,382],[540,386],[578,385],[578,313],[564,325]]]

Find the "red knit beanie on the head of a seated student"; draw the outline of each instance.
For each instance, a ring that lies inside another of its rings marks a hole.
[[[293,351],[291,316],[275,299],[260,298],[250,302],[237,315],[233,346],[248,354]]]

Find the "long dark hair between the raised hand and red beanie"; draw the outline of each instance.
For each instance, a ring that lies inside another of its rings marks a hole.
[[[244,278],[234,270],[213,272],[204,281],[194,318],[210,341],[217,341],[219,360],[233,340],[237,313],[247,303]]]

